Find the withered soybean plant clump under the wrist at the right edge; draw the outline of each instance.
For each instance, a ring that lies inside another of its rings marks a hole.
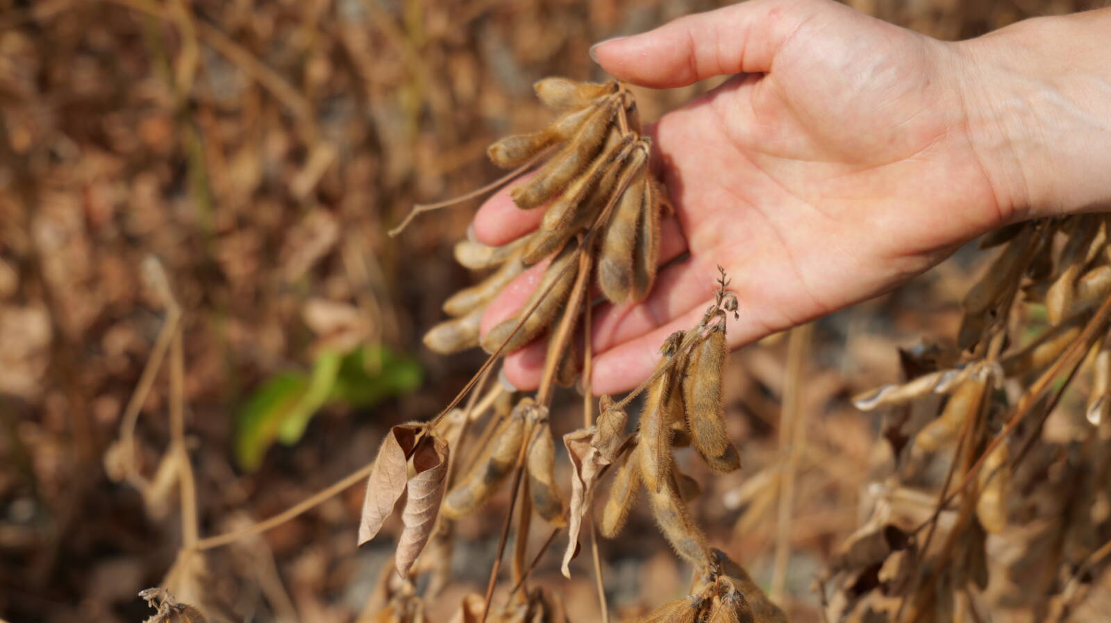
[[[1107,565],[1108,227],[1089,214],[984,237],[1002,249],[955,348],[903,353],[907,382],[854,399],[888,410],[889,452],[823,582],[831,621],[984,621],[999,605],[1064,621]],[[1082,408],[1057,409],[1070,390]]]

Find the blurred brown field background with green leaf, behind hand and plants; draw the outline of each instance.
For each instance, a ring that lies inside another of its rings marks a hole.
[[[942,39],[1089,4],[849,3]],[[587,56],[594,41],[718,4],[0,0],[0,619],[142,621],[152,611],[137,592],[173,562],[177,495],[156,478],[170,442],[166,366],[137,403],[146,493],[121,475],[113,444],[168,314],[144,259],[160,261],[183,314],[201,534],[272,515],[371,460],[390,425],[437,413],[482,361],[420,343],[473,279],[451,245],[476,202],[397,239],[387,230],[414,202],[499,174],[487,144],[550,117],[534,80],[604,79]],[[705,88],[634,91],[652,120]],[[783,589],[792,620],[818,621],[811,582],[859,519],[879,428],[847,396],[897,380],[897,348],[955,334],[979,258],[818,324]],[[708,493],[700,522],[762,584],[777,519],[760,479],[781,458],[785,351],[773,336],[734,354],[741,472],[690,468]],[[565,402],[558,435],[579,421]],[[207,589],[237,621],[358,620],[397,534],[387,524],[356,550],[362,494],[352,486],[214,550]],[[429,604],[432,621],[484,583],[504,505],[501,495],[461,524],[454,583]],[[689,572],[645,515],[602,547],[617,612],[685,594]],[[560,587],[571,621],[595,621],[590,567],[579,561],[563,581],[557,555],[538,582]]]

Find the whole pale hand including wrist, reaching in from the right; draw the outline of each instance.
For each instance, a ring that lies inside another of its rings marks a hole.
[[[943,42],[831,0],[750,0],[595,46],[610,74],[721,87],[659,120],[653,165],[675,204],[645,301],[594,310],[594,393],[649,376],[673,331],[732,277],[739,346],[885,292],[1010,222],[1111,210],[1111,9]],[[474,235],[502,244],[542,210],[499,192]],[[539,278],[488,308],[483,334]],[[540,381],[543,344],[506,359]]]

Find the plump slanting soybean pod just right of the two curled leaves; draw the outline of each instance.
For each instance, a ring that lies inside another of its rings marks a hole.
[[[478,510],[517,463],[517,454],[524,443],[524,413],[532,408],[532,399],[517,403],[510,416],[494,431],[489,450],[474,463],[474,468],[443,499],[442,512],[459,519]]]

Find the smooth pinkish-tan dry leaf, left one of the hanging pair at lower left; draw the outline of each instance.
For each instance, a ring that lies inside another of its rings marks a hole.
[[[386,518],[393,513],[393,505],[404,493],[409,481],[409,456],[417,445],[417,434],[423,429],[423,424],[393,426],[378,449],[378,456],[367,479],[367,496],[362,501],[359,546],[378,534]]]

